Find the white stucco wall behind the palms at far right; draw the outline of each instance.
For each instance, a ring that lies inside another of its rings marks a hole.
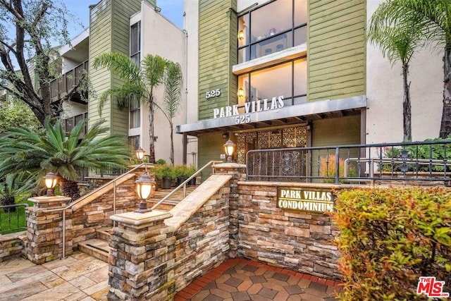
[[[381,0],[367,0],[367,18]],[[414,55],[409,68],[412,99],[412,141],[438,137],[442,116],[442,52],[425,49]],[[366,143],[402,142],[402,68],[390,65],[381,50],[366,49]]]

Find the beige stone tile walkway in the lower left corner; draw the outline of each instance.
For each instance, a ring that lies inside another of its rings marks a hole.
[[[36,265],[23,259],[0,262],[0,300],[106,300],[108,264],[82,252]]]

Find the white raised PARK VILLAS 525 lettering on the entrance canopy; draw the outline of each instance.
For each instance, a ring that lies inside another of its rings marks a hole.
[[[272,99],[260,99],[254,102],[245,102],[245,113],[238,111],[238,105],[224,106],[222,108],[213,109],[213,118],[233,117],[235,116],[235,123],[249,123],[251,122],[250,113],[258,113],[262,111],[270,111],[282,109],[284,106],[283,96],[273,97]]]

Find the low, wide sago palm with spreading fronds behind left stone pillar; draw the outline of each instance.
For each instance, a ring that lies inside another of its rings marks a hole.
[[[103,136],[108,128],[92,125],[84,137],[85,122],[64,133],[61,121],[47,120],[44,137],[28,128],[12,128],[0,137],[0,177],[27,171],[39,181],[49,171],[61,177],[62,193],[72,200],[80,197],[77,171],[124,168],[128,147],[122,137]]]

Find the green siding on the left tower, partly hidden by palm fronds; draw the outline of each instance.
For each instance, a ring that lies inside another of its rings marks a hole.
[[[89,31],[89,75],[92,86],[99,97],[110,87],[122,85],[116,75],[112,75],[106,68],[95,69],[92,66],[94,59],[104,52],[121,52],[129,55],[130,52],[130,17],[140,11],[141,2],[138,0],[120,1],[104,0],[91,11],[91,24]],[[101,118],[111,128],[111,133],[128,135],[128,110],[120,110],[116,102],[107,102],[98,113],[98,99],[89,101],[89,124]]]

